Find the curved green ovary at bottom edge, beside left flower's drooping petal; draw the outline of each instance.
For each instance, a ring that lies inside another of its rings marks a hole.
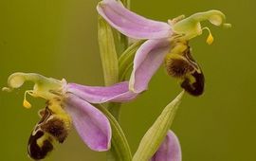
[[[110,114],[109,111],[100,104],[97,104],[96,107],[101,110],[101,112],[108,118],[111,129],[112,129],[112,139],[111,139],[111,150],[108,152],[108,160],[117,160],[117,161],[131,161],[132,154],[128,141],[119,126],[119,122],[114,116]]]

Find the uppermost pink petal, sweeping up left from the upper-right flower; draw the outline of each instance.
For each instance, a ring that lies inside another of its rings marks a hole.
[[[112,27],[134,39],[161,39],[173,34],[167,23],[139,16],[116,0],[101,1],[97,10]]]

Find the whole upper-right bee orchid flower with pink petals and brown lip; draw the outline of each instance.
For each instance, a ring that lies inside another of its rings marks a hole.
[[[168,23],[144,18],[125,9],[116,0],[103,0],[98,12],[122,34],[140,40],[147,40],[137,49],[129,88],[135,93],[147,89],[148,83],[161,63],[169,75],[177,78],[180,85],[193,96],[204,91],[204,75],[199,65],[192,59],[189,41],[209,31],[207,43],[213,42],[209,27],[201,27],[200,22],[210,21],[215,26],[230,27],[225,24],[225,15],[219,10],[198,12],[185,18],[184,15],[169,20]]]

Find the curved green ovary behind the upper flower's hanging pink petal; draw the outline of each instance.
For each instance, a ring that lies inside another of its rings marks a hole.
[[[119,80],[124,80],[126,74],[134,63],[135,54],[137,49],[145,41],[138,41],[133,45],[130,45],[119,57]]]

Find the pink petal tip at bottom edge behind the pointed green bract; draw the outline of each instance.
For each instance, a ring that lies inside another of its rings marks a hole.
[[[180,144],[174,132],[168,132],[151,161],[181,161]]]

